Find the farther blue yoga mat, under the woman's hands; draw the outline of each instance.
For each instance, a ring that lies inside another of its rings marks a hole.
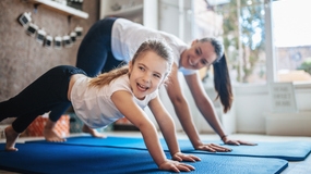
[[[191,153],[278,158],[288,161],[303,161],[311,152],[311,144],[308,141],[258,142],[258,146],[229,146],[229,145],[224,145],[223,141],[210,141],[210,144],[213,142],[222,145],[224,147],[231,148],[232,149],[231,152],[208,152],[208,151],[194,150],[189,140],[179,139],[178,141],[181,151],[191,152]],[[33,141],[33,142],[48,144],[45,140]],[[94,138],[91,136],[81,136],[81,137],[68,138],[65,142],[61,144],[146,149],[144,140],[142,138],[132,138],[132,137]],[[160,144],[164,150],[168,151],[167,145],[164,139],[160,139]]]

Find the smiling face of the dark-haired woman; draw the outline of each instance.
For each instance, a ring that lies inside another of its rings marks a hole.
[[[200,70],[210,66],[217,58],[215,48],[208,41],[192,41],[189,49],[181,53],[180,65],[186,69]]]

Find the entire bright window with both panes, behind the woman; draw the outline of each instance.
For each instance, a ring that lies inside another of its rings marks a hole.
[[[311,82],[310,7],[310,0],[196,0],[194,36],[224,40],[236,83]]]

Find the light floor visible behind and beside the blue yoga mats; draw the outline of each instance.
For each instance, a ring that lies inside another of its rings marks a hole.
[[[141,137],[140,132],[107,132],[107,136],[127,136],[127,137]],[[71,136],[80,136],[81,134],[72,134]],[[159,134],[160,135],[160,134]],[[160,135],[162,137],[162,135]],[[188,137],[183,133],[178,133],[179,139],[187,139]],[[234,134],[230,135],[232,139],[241,139],[248,141],[288,141],[288,140],[303,140],[310,141],[311,137],[298,137],[298,136],[267,136],[267,135],[253,135],[253,134]],[[43,139],[43,137],[23,137],[19,138],[19,142],[25,140]],[[201,134],[201,139],[219,140],[219,137],[214,134]],[[0,138],[0,142],[5,140]],[[311,154],[304,160],[299,162],[289,162],[287,169],[282,174],[310,174],[311,173]],[[1,171],[0,174],[16,174],[13,172]]]

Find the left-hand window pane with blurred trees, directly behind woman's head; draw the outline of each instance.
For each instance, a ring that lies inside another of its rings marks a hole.
[[[194,1],[194,18],[196,37],[216,36],[224,40],[234,82],[266,82],[263,0]]]

